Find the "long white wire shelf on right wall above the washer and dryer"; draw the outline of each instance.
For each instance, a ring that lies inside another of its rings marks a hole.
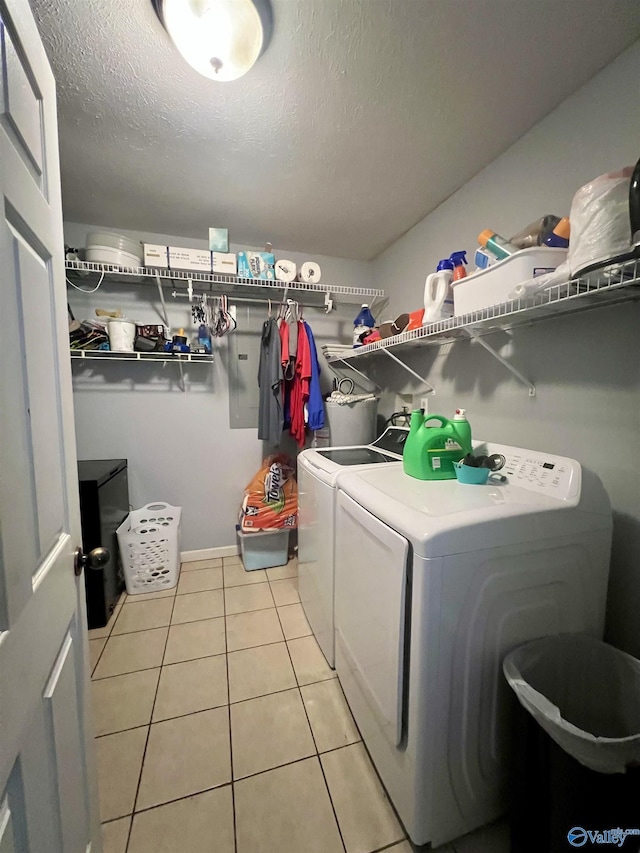
[[[439,320],[420,329],[374,341],[341,357],[328,358],[327,361],[350,361],[395,347],[440,346],[456,340],[469,340],[469,332],[475,336],[486,335],[498,329],[531,325],[552,317],[640,299],[639,285],[640,259],[616,263],[553,285],[528,298],[514,299],[471,314]]]

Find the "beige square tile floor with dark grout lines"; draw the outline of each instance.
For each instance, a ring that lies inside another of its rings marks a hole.
[[[295,560],[185,563],[89,635],[104,853],[410,853]],[[504,844],[493,827],[441,851]]]

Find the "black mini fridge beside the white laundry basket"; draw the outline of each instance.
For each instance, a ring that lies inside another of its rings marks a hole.
[[[86,568],[89,628],[102,628],[124,588],[116,530],[129,514],[126,459],[88,459],[78,462],[82,549],[109,551],[109,562],[100,570]]]

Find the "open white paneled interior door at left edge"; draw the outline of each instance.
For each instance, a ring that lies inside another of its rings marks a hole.
[[[100,853],[55,84],[0,0],[0,853]]]

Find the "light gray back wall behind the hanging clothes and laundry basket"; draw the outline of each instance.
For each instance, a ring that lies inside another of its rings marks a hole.
[[[94,228],[66,223],[65,240],[72,246],[84,246],[86,232]],[[147,242],[207,247],[205,240],[134,234],[117,227],[110,230]],[[233,247],[234,251],[237,248]],[[308,259],[290,252],[287,257],[295,261]],[[314,259],[322,267],[323,281],[371,286],[369,265],[364,262],[317,256]],[[172,300],[165,293],[172,328],[183,326],[194,332],[187,300]],[[104,284],[92,295],[69,288],[68,295],[78,319],[92,317],[94,309],[102,307],[120,308],[141,323],[161,321],[157,289],[152,285]],[[299,298],[304,301],[303,296]],[[317,335],[318,349],[322,343],[344,334],[357,312],[353,304],[338,305],[339,310],[329,316],[322,310],[305,309],[305,319]],[[243,305],[239,318],[246,310]],[[265,306],[252,306],[250,310],[266,317]],[[153,500],[182,506],[183,550],[235,545],[235,523],[244,486],[269,450],[258,441],[257,430],[229,428],[227,339],[215,341],[214,347],[213,365],[185,366],[184,393],[178,384],[178,367],[173,364],[163,367],[142,362],[89,361],[74,362],[73,367],[78,458],[126,457],[134,507]],[[325,364],[320,354],[326,384],[331,374]]]

